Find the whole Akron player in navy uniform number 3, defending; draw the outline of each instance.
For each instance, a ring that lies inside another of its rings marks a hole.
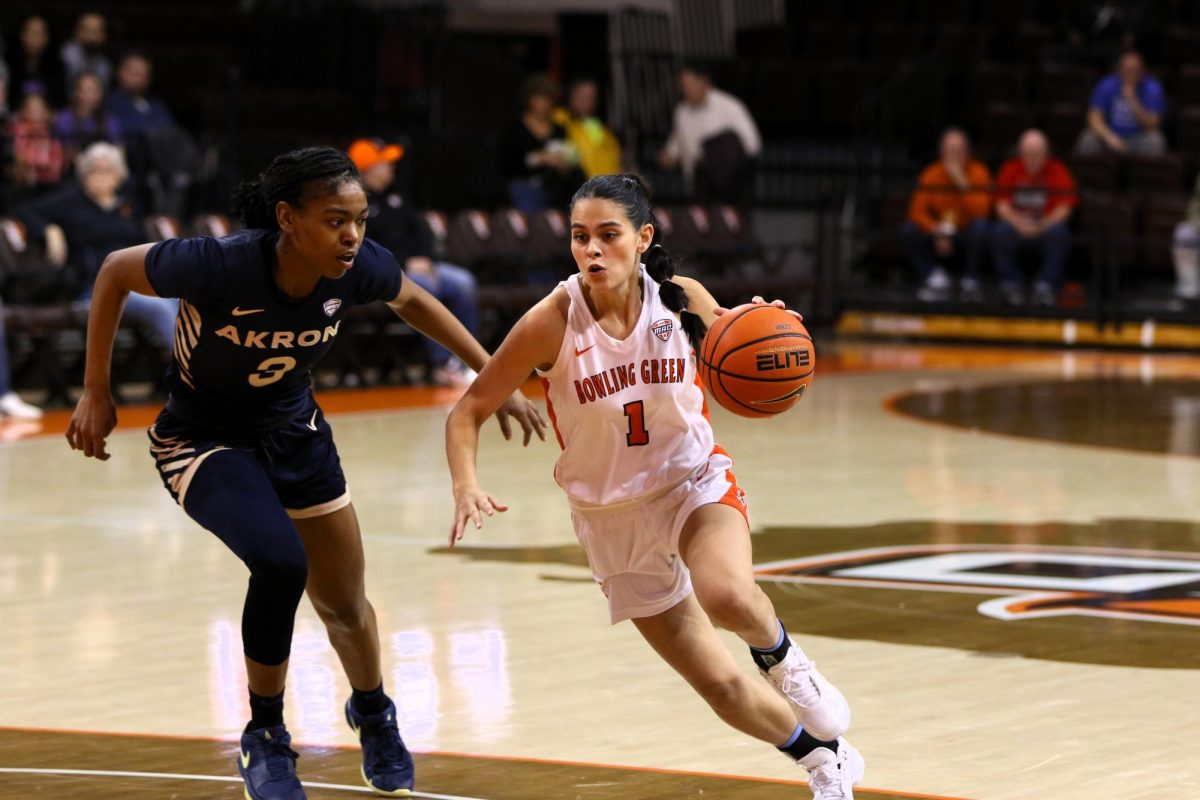
[[[310,369],[353,305],[383,300],[474,369],[487,353],[391,253],[365,237],[367,199],[349,157],[329,148],[276,158],[234,198],[246,230],[112,253],[88,321],[84,393],[67,429],[74,450],[108,458],[116,423],[113,338],[131,291],[179,297],[167,408],[149,429],[163,485],[250,569],[242,646],[251,720],[239,770],[251,800],[299,800],[283,686],[300,596],[307,590],[353,690],[346,718],[376,793],[407,796],[413,759],[384,693],[379,634],[364,590],[359,524]],[[514,393],[498,413],[524,443],[545,439]]]

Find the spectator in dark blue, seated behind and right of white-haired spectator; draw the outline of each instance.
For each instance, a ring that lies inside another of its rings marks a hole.
[[[157,213],[182,218],[199,154],[167,104],[150,94],[152,74],[149,58],[126,53],[116,66],[116,89],[108,97],[108,110],[125,139],[134,182],[146,192],[144,204]]]

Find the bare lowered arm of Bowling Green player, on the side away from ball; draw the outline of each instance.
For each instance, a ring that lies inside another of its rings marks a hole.
[[[462,539],[467,523],[484,527],[484,517],[505,511],[494,497],[479,487],[475,457],[479,428],[503,403],[520,390],[535,367],[548,368],[558,357],[565,331],[565,305],[552,294],[526,312],[496,355],[484,366],[446,419],[446,459],[454,486],[454,523],[450,546]],[[565,293],[562,293],[565,295]]]

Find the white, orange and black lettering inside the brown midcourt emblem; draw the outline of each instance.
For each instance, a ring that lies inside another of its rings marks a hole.
[[[760,582],[990,595],[978,612],[1006,621],[1085,615],[1200,626],[1200,555],[1190,553],[918,545],[772,561],[755,575]]]

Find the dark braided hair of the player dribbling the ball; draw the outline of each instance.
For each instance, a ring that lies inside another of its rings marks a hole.
[[[635,230],[649,223],[654,225],[654,239],[646,251],[643,260],[646,272],[659,284],[659,299],[662,305],[679,314],[679,323],[691,345],[700,351],[707,326],[698,314],[688,311],[688,294],[683,287],[672,281],[676,273],[676,261],[671,253],[659,243],[662,237],[650,209],[650,190],[646,182],[632,173],[619,175],[596,175],[584,181],[583,186],[571,198],[571,207],[580,200],[612,200],[624,211]]]

